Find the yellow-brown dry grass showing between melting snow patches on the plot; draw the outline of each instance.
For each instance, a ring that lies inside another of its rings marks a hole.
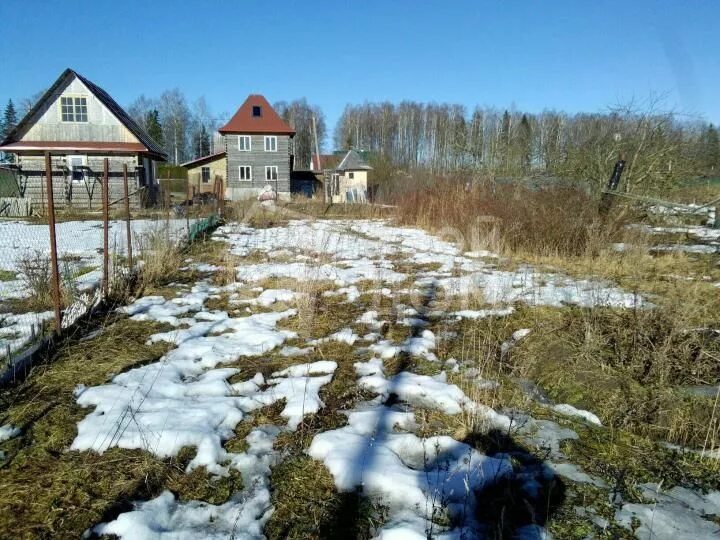
[[[476,518],[490,537],[511,537],[520,527],[535,524],[554,538],[631,538],[641,523],[621,523],[618,511],[623,504],[648,503],[645,483],[659,483],[666,490],[678,486],[698,492],[720,489],[720,456],[713,457],[720,448],[719,398],[717,393],[699,390],[720,380],[718,255],[653,254],[650,248],[660,239],[681,244],[693,240],[682,234],[653,237],[628,229],[628,224],[644,219],[635,209],[616,208],[603,223],[588,201],[578,199],[580,206],[573,208],[567,197],[560,199],[557,194],[499,199],[503,200],[478,197],[478,206],[474,206],[471,197],[450,202],[415,198],[397,214],[372,207],[293,204],[281,212],[237,206],[232,215],[254,226],[254,234],[266,242],[276,241],[289,220],[301,215],[397,217],[462,243],[466,250],[496,252],[499,258],[484,259],[488,272],[518,272],[531,264],[547,275],[562,273],[567,279],[617,284],[646,298],[652,307],[515,302],[514,311],[506,316],[456,320],[447,314],[485,309],[487,299],[461,299],[442,290],[432,298],[420,294],[413,284],[438,272],[442,265],[414,260],[402,251],[388,252],[382,260],[405,278],[356,281],[357,295],[352,300],[345,296],[352,293],[336,293],[338,285],[320,277],[274,276],[235,286],[238,269],[255,265],[253,272],[259,272],[261,266],[257,265],[307,260],[298,254],[310,258],[312,262],[306,263],[310,268],[344,268],[328,255],[325,244],[314,253],[290,253],[288,249],[295,248],[273,250],[262,244],[257,249],[236,251],[233,242],[241,241],[245,233],[235,237],[222,233],[194,246],[182,259],[167,253],[148,269],[152,278],[142,291],[145,296],[171,300],[203,280],[217,287],[231,285],[208,298],[204,307],[231,317],[248,316],[242,302],[254,299],[257,290],[289,289],[298,294],[294,300],[270,305],[247,304],[247,310],[277,313],[296,309],[295,316],[279,323],[281,329],[296,334],[286,345],[303,348],[313,340],[320,341],[302,360],[284,356],[276,348],[225,363],[223,367],[237,370],[228,379],[230,384],[247,381],[258,372],[267,379],[299,361],[337,363],[331,382],[320,391],[323,407],[305,415],[297,429],[284,431],[275,440],[280,459],[269,477],[274,513],[263,525],[267,538],[371,538],[392,521],[393,509],[381,498],[366,496],[362,490],[339,491],[323,462],[308,454],[318,435],[342,429],[348,423],[347,414],[375,396],[358,385],[355,372],[356,363],[372,354],[357,344],[323,341],[342,328],[363,336],[368,330],[357,321],[370,310],[385,321],[377,330],[381,337],[376,339],[402,344],[425,330],[436,336],[436,360],[414,353],[393,356],[383,361],[385,377],[444,372],[447,382],[475,403],[576,434],[561,437],[553,449],[523,430],[527,420],[518,420],[517,431],[502,431],[489,427],[475,414],[448,414],[427,402],[397,403],[399,408],[413,411],[417,421],[414,433],[423,439],[449,436],[486,456],[512,456],[515,480],[499,482],[478,494],[481,504]],[[557,202],[561,200],[563,204]],[[487,215],[500,219],[467,218]],[[331,223],[332,230],[341,227],[339,222]],[[374,233],[353,234],[352,242],[362,242],[372,239],[368,235]],[[298,243],[304,240],[300,237]],[[387,242],[397,250],[409,245]],[[632,247],[617,251],[612,247],[617,242]],[[438,248],[433,253],[440,252]],[[212,265],[214,270],[204,272],[202,266],[193,265]],[[457,268],[451,274],[462,275]],[[392,296],[378,292],[384,287]],[[414,317],[420,322],[408,324],[399,306],[414,308],[418,313]],[[518,329],[529,333],[516,339]],[[78,335],[64,345],[24,383],[2,391],[0,425],[18,426],[21,434],[0,442],[5,454],[0,462],[0,536],[78,537],[97,523],[128,512],[134,502],[153,499],[166,489],[180,501],[220,505],[247,487],[232,469],[227,476],[202,467],[187,472],[195,454],[191,447],[166,458],[118,447],[102,454],[68,450],[77,435],[77,422],[89,412],[76,402],[78,385],[105,384],[118,374],[158,362],[173,346],[150,343],[149,339],[169,330],[173,327],[167,323],[112,314],[88,328],[85,333],[89,337]],[[455,365],[459,369],[453,369]],[[489,382],[478,384],[482,381]],[[253,429],[284,422],[283,403],[261,408],[237,423],[233,436],[223,441],[224,448],[246,452],[246,438]],[[591,411],[602,427],[561,414],[547,403]],[[579,476],[537,475],[557,461],[578,467],[594,483],[577,480]],[[534,496],[517,480],[528,476],[539,479]],[[451,527],[453,519],[450,514],[433,514],[428,521],[430,530]],[[720,526],[718,516],[708,519]]]

